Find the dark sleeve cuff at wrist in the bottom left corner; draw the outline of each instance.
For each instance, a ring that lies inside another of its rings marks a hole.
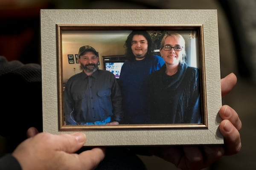
[[[11,154],[0,158],[0,170],[22,170],[20,163]]]

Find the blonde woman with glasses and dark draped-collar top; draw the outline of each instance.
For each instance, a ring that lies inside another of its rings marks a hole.
[[[199,70],[185,62],[184,38],[166,34],[160,46],[165,65],[150,77],[151,123],[201,123]]]

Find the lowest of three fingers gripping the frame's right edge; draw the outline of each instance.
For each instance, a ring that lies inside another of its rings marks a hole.
[[[233,155],[241,150],[240,133],[229,120],[221,121],[219,125],[221,134],[224,137],[224,155]]]

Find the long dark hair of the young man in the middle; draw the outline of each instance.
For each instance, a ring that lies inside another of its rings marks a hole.
[[[131,32],[131,34],[128,35],[127,40],[125,41],[125,47],[126,47],[125,56],[127,57],[127,59],[135,60],[135,56],[131,50],[131,45],[132,45],[131,42],[134,35],[143,35],[145,37],[145,39],[148,41],[148,51],[145,54],[145,57],[152,57],[154,55],[153,50],[155,45],[150,35],[148,34],[147,31],[134,30]]]

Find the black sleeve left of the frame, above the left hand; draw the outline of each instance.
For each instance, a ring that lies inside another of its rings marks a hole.
[[[29,127],[43,130],[41,89],[40,65],[0,56],[0,135],[6,138],[6,153],[27,139]],[[18,128],[6,128],[10,125]]]

